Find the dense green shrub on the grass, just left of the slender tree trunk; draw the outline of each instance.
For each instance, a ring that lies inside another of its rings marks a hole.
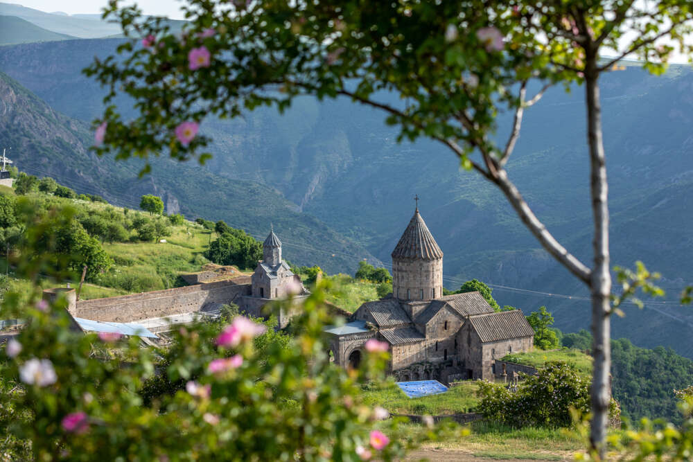
[[[549,362],[537,375],[527,375],[517,391],[504,384],[479,382],[477,410],[484,417],[515,427],[572,425],[571,409],[590,410],[590,377],[565,362]],[[611,414],[617,416],[612,400]]]

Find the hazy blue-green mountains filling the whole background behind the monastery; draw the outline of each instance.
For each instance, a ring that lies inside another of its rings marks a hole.
[[[8,14],[5,5],[0,14]],[[79,36],[76,30],[53,31]],[[23,130],[23,153],[15,147],[12,155],[25,170],[68,184],[82,181],[115,202],[132,204],[140,192],[154,190],[168,195],[167,206],[177,203],[188,215],[225,219],[258,235],[270,221],[284,220],[288,240],[306,252],[296,254],[296,263],[352,273],[362,258],[387,267],[418,194],[421,213],[445,253],[448,288],[478,278],[495,288],[501,305],[525,312],[546,305],[561,330],[588,326],[585,288],[538,246],[498,190],[460,169],[441,145],[397,143],[396,130],[385,125],[382,113],[349,100],[306,97],[283,116],[258,109],[234,121],[209,118],[202,130],[213,136],[215,155],[204,168],[160,159],[150,177],[134,180],[137,163],[94,158],[86,150],[87,123],[103,110],[104,91],[80,71],[95,56],[114,53],[120,42],[73,39],[0,47],[0,70],[9,76],[3,76],[8,82],[3,85],[21,93],[17,104],[26,106],[19,117],[24,122],[13,122],[12,130],[3,121],[0,141],[18,146],[8,137]],[[672,346],[693,357],[693,315],[676,303],[678,292],[693,280],[693,73],[672,66],[655,77],[626,66],[604,75],[601,85],[612,261],[624,267],[644,261],[663,274],[667,290],[666,299],[646,300],[644,310],[627,308],[624,319],[615,319],[614,336],[644,347]],[[570,90],[552,89],[527,111],[508,170],[538,217],[589,265],[584,89]],[[6,104],[5,98],[3,91]],[[126,98],[117,103],[125,116],[132,115]],[[40,113],[55,114],[52,128],[30,124],[31,114]],[[500,114],[500,126],[507,127],[510,118]],[[69,132],[67,127],[76,127],[79,143],[44,146],[42,130]],[[215,187],[192,186],[201,183]],[[284,218],[274,217],[277,213]],[[310,236],[301,226],[323,226],[324,236]]]

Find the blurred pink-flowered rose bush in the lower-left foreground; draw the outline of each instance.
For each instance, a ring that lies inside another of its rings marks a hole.
[[[22,249],[42,240],[55,251],[46,233],[56,218],[37,216]],[[60,275],[55,258],[31,256],[15,267],[34,290],[6,292],[0,312],[25,321],[0,348],[3,459],[392,460],[417,443],[396,419],[374,428],[383,412],[358,396],[383,377],[383,348],[358,371],[330,363],[322,331],[333,320],[320,285],[292,320],[292,337],[237,316],[180,328],[168,351],[155,351],[137,337],[74,330],[64,299],[40,301],[36,278]],[[157,376],[168,386],[148,388]]]

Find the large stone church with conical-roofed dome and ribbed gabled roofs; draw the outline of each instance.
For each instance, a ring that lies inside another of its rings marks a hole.
[[[387,341],[389,371],[401,381],[491,380],[495,359],[534,343],[520,310],[494,312],[479,292],[443,295],[443,252],[418,206],[392,251],[392,294],[326,333],[344,367],[358,367],[368,339]]]

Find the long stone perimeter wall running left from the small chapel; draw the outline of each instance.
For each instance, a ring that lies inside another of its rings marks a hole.
[[[132,322],[200,311],[208,304],[229,303],[250,294],[250,285],[234,281],[176,287],[141,294],[77,302],[75,316],[94,321]]]

